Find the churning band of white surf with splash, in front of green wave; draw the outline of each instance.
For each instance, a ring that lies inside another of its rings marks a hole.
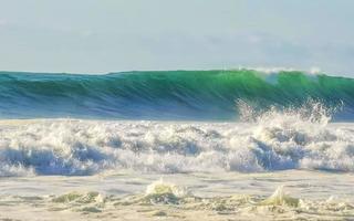
[[[256,116],[256,118],[254,118]],[[354,171],[354,125],[327,124],[320,104],[270,109],[251,123],[32,120],[0,124],[0,176]]]

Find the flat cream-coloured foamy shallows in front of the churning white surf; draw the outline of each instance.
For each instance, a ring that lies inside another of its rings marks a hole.
[[[353,181],[303,170],[1,178],[0,220],[348,220]]]

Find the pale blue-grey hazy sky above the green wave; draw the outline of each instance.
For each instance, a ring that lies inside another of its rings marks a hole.
[[[353,0],[0,0],[0,70],[354,76]]]

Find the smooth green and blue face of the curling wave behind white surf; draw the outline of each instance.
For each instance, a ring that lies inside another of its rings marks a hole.
[[[253,109],[301,106],[309,99],[343,105],[354,118],[354,80],[303,72],[128,72],[107,75],[0,74],[0,117],[237,119],[237,101]]]

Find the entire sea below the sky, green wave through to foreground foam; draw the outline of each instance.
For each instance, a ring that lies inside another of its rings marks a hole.
[[[353,220],[353,105],[299,71],[2,73],[0,220]]]

